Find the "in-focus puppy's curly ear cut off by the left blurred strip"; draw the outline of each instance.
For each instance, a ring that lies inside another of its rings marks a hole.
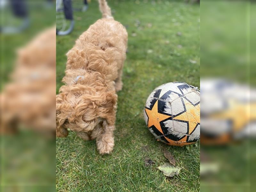
[[[67,137],[68,130],[63,127],[65,121],[67,121],[68,116],[63,113],[63,99],[62,95],[56,95],[56,136],[57,137]]]

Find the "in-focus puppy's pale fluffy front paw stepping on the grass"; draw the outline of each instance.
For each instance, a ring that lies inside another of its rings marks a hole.
[[[109,126],[103,123],[103,132],[96,138],[97,149],[100,154],[110,154],[114,147],[115,125]]]

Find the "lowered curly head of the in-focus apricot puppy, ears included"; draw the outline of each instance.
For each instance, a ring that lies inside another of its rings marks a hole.
[[[106,88],[62,86],[56,96],[56,135],[68,136],[68,128],[85,140],[95,139],[102,125],[115,123],[117,95]]]

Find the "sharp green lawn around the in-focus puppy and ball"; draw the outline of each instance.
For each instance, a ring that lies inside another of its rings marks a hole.
[[[118,92],[114,151],[101,156],[95,141],[83,141],[73,132],[66,139],[58,138],[56,190],[197,192],[200,188],[199,142],[187,147],[166,146],[175,157],[176,166],[182,169],[173,178],[165,177],[157,169],[166,162],[162,152],[165,145],[148,131],[143,108],[150,92],[161,84],[184,81],[199,87],[199,5],[178,1],[108,3],[114,18],[127,28],[129,35],[124,87]],[[73,32],[56,38],[56,92],[65,75],[65,54],[78,36],[101,18],[96,1],[89,4],[87,12],[74,15]],[[145,167],[146,157],[156,164]]]

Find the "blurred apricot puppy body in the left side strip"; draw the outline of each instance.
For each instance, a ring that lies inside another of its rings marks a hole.
[[[1,133],[55,132],[55,42],[53,27],[18,50],[11,82],[1,93]]]

